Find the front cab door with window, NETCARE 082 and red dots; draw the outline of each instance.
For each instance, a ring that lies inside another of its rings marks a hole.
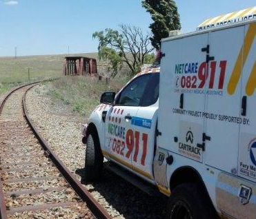
[[[132,169],[134,129],[132,118],[137,114],[149,74],[138,76],[118,94],[115,105],[106,116],[105,150],[108,158]]]

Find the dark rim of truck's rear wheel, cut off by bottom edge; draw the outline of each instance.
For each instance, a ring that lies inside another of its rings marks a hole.
[[[184,202],[177,202],[173,207],[170,219],[193,219],[190,210]]]

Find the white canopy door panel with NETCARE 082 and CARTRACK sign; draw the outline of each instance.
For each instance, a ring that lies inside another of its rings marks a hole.
[[[208,33],[162,43],[157,146],[203,161]],[[199,147],[197,147],[199,146]]]

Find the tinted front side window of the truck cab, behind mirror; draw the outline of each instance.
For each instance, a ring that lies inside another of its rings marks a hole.
[[[139,106],[151,74],[144,74],[129,83],[119,94],[116,105]]]

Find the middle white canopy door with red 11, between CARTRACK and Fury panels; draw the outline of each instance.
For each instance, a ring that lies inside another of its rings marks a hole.
[[[210,32],[206,82],[205,163],[231,172],[237,169],[244,26]],[[240,56],[240,58],[239,58]]]

